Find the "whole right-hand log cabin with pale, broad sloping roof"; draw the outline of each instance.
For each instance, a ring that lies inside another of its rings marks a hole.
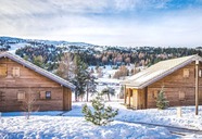
[[[198,103],[202,104],[201,62],[199,55],[166,60],[125,79],[122,83],[125,104],[137,110],[156,108],[162,87],[169,106],[194,105],[195,94]]]

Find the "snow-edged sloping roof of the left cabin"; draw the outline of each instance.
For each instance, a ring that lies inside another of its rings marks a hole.
[[[41,68],[41,67],[39,67],[39,66],[26,61],[26,60],[15,55],[15,54],[12,54],[10,52],[0,52],[0,59],[1,58],[9,58],[9,59],[22,64],[22,65],[35,71],[36,73],[39,73],[39,74],[41,74],[41,75],[43,75],[43,76],[46,76],[46,77],[59,83],[59,84],[61,84],[62,86],[68,87],[71,89],[75,89],[75,86],[73,84],[71,84],[70,81],[67,81],[67,80],[65,80],[65,79],[63,79],[63,78],[50,73],[50,72],[48,72],[48,71],[46,71],[46,70],[43,70],[43,68]]]

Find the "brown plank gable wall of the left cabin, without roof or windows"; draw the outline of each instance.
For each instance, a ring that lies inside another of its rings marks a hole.
[[[7,64],[8,75],[0,77],[0,91],[3,93],[3,101],[0,103],[0,111],[22,111],[22,102],[17,100],[17,92],[31,92],[36,96],[35,105],[39,111],[63,110],[63,91],[65,97],[65,110],[72,108],[71,90],[60,84],[10,60],[0,59],[0,64]],[[20,67],[20,77],[12,76],[12,68]],[[40,99],[40,91],[51,91],[51,99]],[[67,101],[66,101],[67,98]]]

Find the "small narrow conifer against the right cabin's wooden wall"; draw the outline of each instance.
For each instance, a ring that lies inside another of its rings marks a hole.
[[[164,89],[162,87],[161,91],[157,93],[156,106],[159,110],[164,110],[164,109],[168,108],[168,105],[169,105],[169,101],[166,100],[166,98],[164,96]]]

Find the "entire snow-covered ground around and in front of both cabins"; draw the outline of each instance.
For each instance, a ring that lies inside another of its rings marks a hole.
[[[85,121],[81,105],[85,102],[73,103],[73,110],[66,113],[36,112],[30,119],[24,113],[1,113],[0,139],[175,139],[175,138],[202,138],[202,135],[176,136],[165,127],[147,126],[127,122],[143,122],[161,125],[172,125],[192,129],[202,129],[202,108],[199,116],[194,116],[194,108],[182,108],[182,116],[176,115],[176,108],[165,111],[127,110],[121,103],[108,102],[119,113],[115,121],[108,126],[94,126]],[[88,105],[90,105],[88,103]],[[59,116],[59,114],[62,114]]]

